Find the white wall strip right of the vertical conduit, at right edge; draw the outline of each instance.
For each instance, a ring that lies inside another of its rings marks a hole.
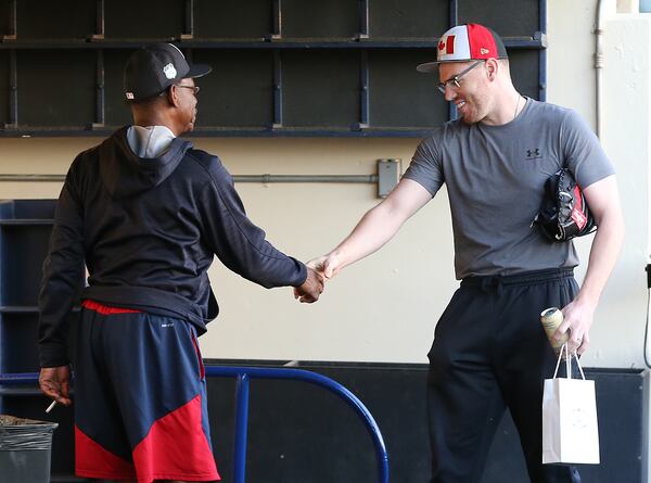
[[[651,14],[616,15],[604,34],[608,68],[604,72],[603,144],[620,174],[626,221],[626,244],[604,296],[603,358],[624,367],[643,367],[643,329],[647,313],[649,262],[649,163],[651,162]],[[640,48],[642,47],[643,48]],[[612,327],[608,328],[608,327]]]

